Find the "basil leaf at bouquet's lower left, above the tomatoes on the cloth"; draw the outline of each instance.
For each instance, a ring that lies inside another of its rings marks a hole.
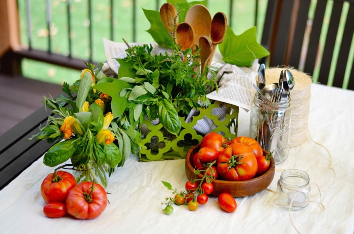
[[[74,139],[68,139],[52,146],[43,157],[46,166],[55,167],[66,162],[76,151]]]

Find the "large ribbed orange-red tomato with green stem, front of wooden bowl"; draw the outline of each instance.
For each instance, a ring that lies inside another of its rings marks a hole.
[[[258,169],[251,148],[234,143],[228,146],[217,159],[217,172],[225,180],[246,180],[254,177]]]

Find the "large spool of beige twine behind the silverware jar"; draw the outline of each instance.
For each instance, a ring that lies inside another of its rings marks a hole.
[[[265,84],[278,83],[280,72],[285,69],[290,70],[295,80],[290,93],[290,147],[295,147],[301,145],[307,137],[312,78],[292,68],[268,68],[265,69]]]

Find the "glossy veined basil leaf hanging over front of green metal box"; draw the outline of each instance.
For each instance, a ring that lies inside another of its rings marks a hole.
[[[159,120],[167,131],[174,135],[178,135],[181,130],[181,120],[172,103],[166,99],[162,99],[158,104]]]

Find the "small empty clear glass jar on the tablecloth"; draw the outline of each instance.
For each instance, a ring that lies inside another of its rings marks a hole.
[[[311,187],[306,172],[297,169],[282,172],[278,180],[276,204],[300,210],[308,205],[310,195]]]

